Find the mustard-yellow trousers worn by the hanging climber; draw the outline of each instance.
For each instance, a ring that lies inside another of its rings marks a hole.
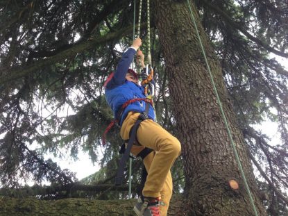
[[[130,128],[138,116],[139,113],[128,113],[120,131],[123,140],[128,140]],[[141,122],[137,131],[137,140],[142,146],[133,145],[131,153],[134,155],[137,155],[144,147],[154,150],[144,158],[148,175],[142,193],[145,197],[161,197],[164,206],[160,205],[160,211],[161,215],[165,216],[172,195],[170,169],[180,155],[180,142],[151,119]]]

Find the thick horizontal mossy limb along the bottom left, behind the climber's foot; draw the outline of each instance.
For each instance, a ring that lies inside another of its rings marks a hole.
[[[14,199],[0,197],[0,216],[135,216],[130,200],[60,199]],[[181,199],[172,199],[168,215],[177,215]]]

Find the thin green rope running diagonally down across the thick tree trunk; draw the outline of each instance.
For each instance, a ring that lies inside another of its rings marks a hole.
[[[256,216],[258,216],[258,213],[257,213],[257,210],[256,210],[256,207],[255,207],[255,203],[253,201],[253,197],[252,197],[252,194],[251,194],[251,191],[249,189],[249,186],[248,186],[248,183],[247,183],[247,180],[246,180],[246,176],[244,174],[244,171],[243,171],[243,168],[242,168],[242,164],[241,164],[241,161],[240,161],[240,158],[239,158],[239,155],[238,155],[238,152],[237,152],[237,149],[235,147],[235,144],[234,144],[234,141],[233,141],[233,138],[232,138],[232,135],[231,135],[231,132],[230,132],[230,128],[228,126],[228,122],[227,122],[227,119],[226,119],[226,115],[223,111],[223,107],[222,107],[222,104],[221,104],[221,101],[220,101],[220,98],[219,98],[219,94],[218,94],[218,91],[217,91],[217,88],[216,88],[216,85],[214,83],[214,78],[212,76],[212,72],[211,72],[211,69],[210,69],[210,66],[208,64],[208,61],[207,61],[207,57],[206,57],[206,53],[205,53],[205,50],[203,48],[203,44],[202,44],[202,41],[201,41],[201,38],[200,38],[200,35],[198,33],[198,28],[197,28],[197,25],[196,25],[196,22],[195,22],[195,18],[194,18],[194,14],[192,12],[192,8],[191,8],[191,5],[189,3],[189,0],[187,0],[187,3],[188,3],[188,6],[189,6],[189,12],[190,12],[190,15],[191,15],[191,19],[192,19],[192,22],[194,23],[194,26],[195,26],[195,30],[196,30],[196,34],[197,34],[197,37],[198,37],[198,40],[199,40],[199,43],[200,43],[200,46],[201,46],[201,49],[202,49],[202,53],[203,53],[203,56],[204,56],[204,59],[205,59],[205,63],[207,65],[207,70],[209,72],[209,75],[210,75],[210,79],[211,79],[211,82],[212,82],[212,85],[213,85],[213,90],[214,90],[214,93],[216,94],[216,97],[217,97],[217,103],[219,104],[219,108],[220,108],[220,111],[221,111],[221,115],[223,117],[223,121],[224,121],[224,124],[226,126],[226,130],[228,132],[228,137],[229,137],[229,140],[232,144],[232,149],[235,153],[235,157],[236,157],[236,160],[237,160],[237,164],[238,164],[238,167],[239,167],[239,170],[241,172],[241,175],[242,175],[242,178],[244,179],[244,184],[245,184],[245,188],[248,192],[248,195],[249,195],[249,199],[251,201],[251,205],[253,206],[253,210],[254,210],[254,213]]]

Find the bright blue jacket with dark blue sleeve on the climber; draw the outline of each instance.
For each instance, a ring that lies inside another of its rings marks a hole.
[[[129,69],[130,64],[135,56],[135,49],[129,48],[122,56],[121,60],[117,65],[116,72],[112,79],[107,83],[105,88],[105,99],[113,111],[114,117],[117,114],[121,106],[130,99],[135,98],[145,98],[144,88],[141,85],[137,85],[133,82],[126,80],[126,73]],[[155,120],[154,109],[149,105],[149,118]],[[136,101],[135,103],[130,103],[121,115],[120,126],[124,122],[124,119],[130,111],[137,113],[144,113],[145,102]]]

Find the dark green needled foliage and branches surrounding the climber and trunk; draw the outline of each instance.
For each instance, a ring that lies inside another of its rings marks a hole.
[[[121,51],[133,40],[133,3],[0,2],[2,185],[16,187],[19,179],[25,178],[33,178],[37,183],[45,179],[62,185],[74,183],[74,174],[60,169],[52,160],[45,160],[46,153],[61,157],[65,150],[76,158],[78,151],[83,150],[93,162],[98,160],[101,135],[112,119],[103,98],[103,82],[115,70]],[[279,215],[287,213],[288,72],[273,57],[288,58],[287,1],[194,3],[221,63],[257,180],[267,195],[266,206],[271,215],[275,211]],[[142,17],[146,22],[146,11]],[[152,12],[152,59],[158,83],[155,108],[158,122],[177,134],[181,131],[175,130],[177,122],[167,88],[166,70],[171,65],[164,63],[153,17]],[[145,41],[144,27],[141,36]],[[281,139],[277,145],[255,129],[266,119],[278,124]],[[110,133],[101,160],[105,179],[110,179],[117,167],[121,140],[116,133]],[[180,179],[183,175],[173,173]],[[97,179],[105,182],[100,176]]]

